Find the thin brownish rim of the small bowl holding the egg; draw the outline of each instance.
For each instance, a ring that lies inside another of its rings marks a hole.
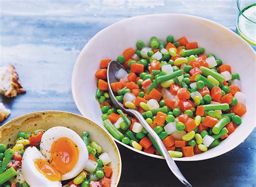
[[[120,155],[120,152],[119,152],[119,149],[117,147],[117,144],[116,142],[113,140],[113,138],[109,135],[109,133],[107,133],[104,128],[100,127],[99,125],[97,125],[95,122],[93,122],[92,120],[84,117],[84,116],[81,116],[79,114],[76,114],[76,113],[72,113],[72,112],[65,112],[65,111],[57,111],[57,110],[45,110],[45,111],[36,111],[36,112],[30,112],[30,113],[26,113],[26,114],[23,114],[22,116],[19,116],[19,117],[16,117],[14,119],[11,119],[10,121],[7,121],[5,124],[3,124],[2,126],[0,126],[0,131],[5,128],[5,127],[8,127],[10,124],[14,123],[15,121],[19,120],[19,119],[22,119],[22,118],[26,118],[26,117],[30,117],[30,116],[33,116],[33,115],[36,115],[36,114],[68,114],[68,115],[71,115],[73,117],[76,117],[76,118],[79,118],[79,119],[82,119],[82,120],[85,120],[85,121],[88,121],[90,124],[92,124],[93,126],[96,126],[96,128],[98,128],[99,131],[102,131],[106,136],[107,138],[111,141],[111,144],[113,145],[114,147],[114,150],[116,150],[115,152],[117,153],[117,156],[118,156],[118,160],[119,160],[119,166],[118,166],[118,174],[117,174],[117,181],[116,181],[116,184],[115,186],[118,186],[119,184],[119,181],[120,181],[120,178],[121,178],[121,174],[122,174],[122,159],[121,159],[121,155]],[[72,126],[72,125],[71,125]],[[21,127],[22,128],[22,127]]]

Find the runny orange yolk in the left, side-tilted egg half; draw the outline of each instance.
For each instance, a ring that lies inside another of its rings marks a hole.
[[[49,162],[43,159],[36,159],[34,161],[35,166],[38,171],[40,171],[46,178],[50,181],[60,181],[60,174],[56,171]]]

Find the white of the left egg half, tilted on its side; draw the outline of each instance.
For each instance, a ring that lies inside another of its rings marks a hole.
[[[30,186],[54,186],[61,187],[62,183],[59,181],[50,181],[35,166],[36,159],[43,159],[45,157],[39,152],[36,147],[26,148],[22,157],[22,175],[25,181]]]

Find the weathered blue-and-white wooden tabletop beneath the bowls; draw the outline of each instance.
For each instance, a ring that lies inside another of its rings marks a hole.
[[[41,110],[79,113],[71,94],[76,58],[93,35],[116,21],[150,13],[186,13],[235,30],[234,0],[29,1],[2,0],[1,65],[17,68],[26,93],[1,97],[11,116]],[[177,162],[194,186],[256,186],[256,131],[232,151],[214,159]],[[120,186],[181,186],[165,161],[118,145],[123,161]]]

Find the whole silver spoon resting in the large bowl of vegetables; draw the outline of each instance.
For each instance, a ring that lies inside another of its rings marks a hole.
[[[118,80],[116,79],[116,73],[121,68],[125,70],[125,68],[120,63],[118,63],[117,61],[110,62],[109,63],[109,67],[107,68],[107,83],[108,83],[108,86],[109,86],[109,95],[110,95],[110,99],[111,99],[112,103],[114,104],[114,106],[117,109],[121,109],[125,113],[129,114],[130,116],[136,117],[139,120],[140,124],[142,124],[142,126],[147,130],[147,132],[150,133],[150,135],[153,137],[153,139],[156,140],[157,145],[159,146],[161,152],[163,153],[163,155],[165,157],[165,160],[166,160],[169,168],[173,172],[173,174],[185,186],[192,186],[186,180],[186,178],[181,174],[181,172],[180,172],[179,168],[177,167],[176,163],[173,161],[172,157],[170,156],[170,154],[168,153],[167,149],[165,148],[164,143],[161,141],[161,139],[159,138],[157,133],[152,130],[152,128],[149,126],[149,124],[147,124],[147,122],[143,118],[142,114],[140,114],[137,110],[125,109],[123,104],[119,103],[117,101],[117,99],[114,97],[114,94],[113,94],[113,91],[111,89],[110,84],[113,83],[113,82],[118,82]]]

